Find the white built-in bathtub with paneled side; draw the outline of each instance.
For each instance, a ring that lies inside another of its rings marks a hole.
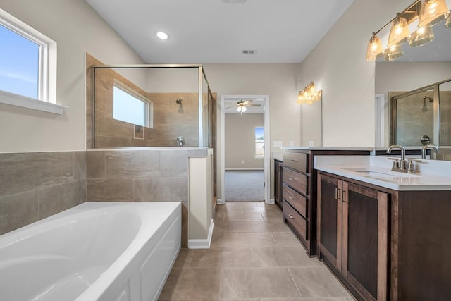
[[[180,202],[87,202],[0,236],[0,300],[157,300],[180,240]]]

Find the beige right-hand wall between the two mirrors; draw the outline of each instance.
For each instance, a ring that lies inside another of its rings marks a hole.
[[[375,64],[365,61],[366,44],[371,32],[411,3],[355,0],[301,63],[298,89],[313,80],[323,90],[323,146],[374,145]]]

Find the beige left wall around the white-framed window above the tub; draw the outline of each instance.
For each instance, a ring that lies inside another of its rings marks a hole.
[[[0,152],[86,149],[85,52],[105,63],[142,60],[85,1],[0,0],[0,7],[58,44],[56,102],[69,107],[56,116],[0,104],[0,128],[8,129]]]

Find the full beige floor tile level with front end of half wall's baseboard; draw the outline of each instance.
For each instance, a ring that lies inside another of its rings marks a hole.
[[[271,233],[223,232],[222,247],[276,247]]]

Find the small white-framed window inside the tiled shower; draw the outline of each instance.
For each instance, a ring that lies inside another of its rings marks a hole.
[[[153,103],[140,94],[115,82],[113,87],[113,118],[135,125],[154,128]]]

